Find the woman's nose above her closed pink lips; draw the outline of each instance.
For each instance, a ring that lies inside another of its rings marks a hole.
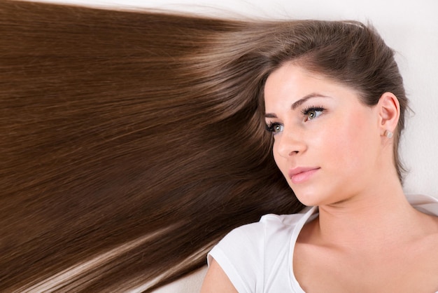
[[[306,151],[307,146],[299,130],[294,132],[284,129],[274,141],[274,151],[283,158],[288,158]]]

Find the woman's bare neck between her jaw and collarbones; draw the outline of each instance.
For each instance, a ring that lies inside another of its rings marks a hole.
[[[323,243],[335,246],[379,247],[418,233],[419,212],[407,201],[398,179],[341,203],[321,205],[319,213],[315,232]]]

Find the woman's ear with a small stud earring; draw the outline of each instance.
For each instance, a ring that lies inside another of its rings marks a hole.
[[[400,103],[393,93],[383,93],[377,103],[381,135],[386,131],[395,132],[400,118]]]

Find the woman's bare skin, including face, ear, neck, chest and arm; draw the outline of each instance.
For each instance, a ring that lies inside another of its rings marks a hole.
[[[264,88],[274,159],[297,198],[318,205],[292,266],[305,292],[437,292],[438,217],[407,202],[393,158],[400,104],[288,62]],[[293,176],[296,168],[312,169]],[[231,288],[231,289],[230,289]],[[236,292],[213,261],[202,292]]]

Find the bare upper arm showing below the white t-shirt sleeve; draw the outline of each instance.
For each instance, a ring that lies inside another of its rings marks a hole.
[[[201,287],[201,293],[212,292],[237,292],[215,259],[211,259],[209,270],[206,273]]]

